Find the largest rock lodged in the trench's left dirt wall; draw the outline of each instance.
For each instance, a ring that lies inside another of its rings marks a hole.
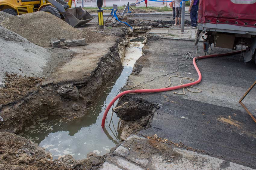
[[[57,93],[65,99],[79,99],[78,89],[73,84],[63,85],[59,87]]]

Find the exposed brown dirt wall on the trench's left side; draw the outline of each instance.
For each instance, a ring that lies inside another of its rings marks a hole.
[[[121,58],[127,46],[126,29],[121,31],[108,53],[101,57],[98,66],[87,79],[76,82],[37,85],[33,91],[12,103],[2,106],[0,131],[17,133],[30,121],[45,116],[65,119],[79,118],[101,93],[105,85],[122,68]],[[65,95],[61,94],[65,90]]]

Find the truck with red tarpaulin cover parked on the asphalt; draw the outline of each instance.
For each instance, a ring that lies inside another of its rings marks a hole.
[[[195,44],[204,39],[204,51],[214,47],[236,50],[246,46],[245,62],[256,64],[256,0],[200,0]]]

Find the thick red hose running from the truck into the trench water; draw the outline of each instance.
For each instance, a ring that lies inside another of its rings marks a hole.
[[[123,91],[122,93],[118,94],[108,105],[108,107],[106,108],[102,121],[101,121],[101,126],[102,128],[105,126],[105,120],[106,117],[108,115],[108,111],[111,108],[111,106],[115,103],[115,101],[117,99],[119,99],[120,97],[122,97],[125,94],[129,94],[129,93],[155,93],[155,92],[163,92],[163,91],[171,91],[171,90],[176,90],[176,89],[180,89],[180,88],[184,88],[184,87],[189,87],[189,86],[193,86],[196,85],[198,83],[201,82],[202,76],[200,73],[200,70],[198,69],[197,65],[196,65],[196,59],[202,59],[202,58],[211,58],[211,57],[222,57],[222,56],[227,56],[227,55],[233,55],[233,54],[238,54],[241,53],[243,50],[241,51],[235,51],[235,52],[229,52],[229,53],[223,53],[223,54],[213,54],[213,55],[204,55],[204,56],[200,56],[200,57],[195,57],[193,58],[193,65],[195,67],[195,70],[198,74],[198,80],[196,80],[195,82],[191,82],[191,83],[187,83],[184,85],[178,85],[178,86],[174,86],[174,87],[168,87],[168,88],[158,88],[158,89],[141,89],[141,90],[127,90],[127,91]]]

